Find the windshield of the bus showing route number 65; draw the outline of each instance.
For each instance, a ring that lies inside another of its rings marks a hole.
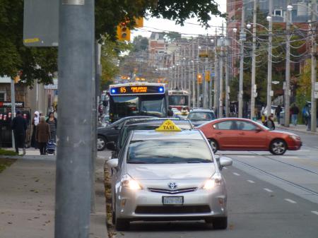
[[[112,96],[112,114],[114,119],[137,115],[165,117],[165,95],[126,95]]]

